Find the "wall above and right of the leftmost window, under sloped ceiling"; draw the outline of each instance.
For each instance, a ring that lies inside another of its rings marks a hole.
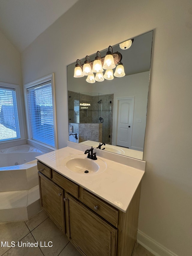
[[[0,31],[0,82],[17,84],[20,86],[22,110],[24,110],[20,53]],[[25,112],[22,113],[24,129]]]

